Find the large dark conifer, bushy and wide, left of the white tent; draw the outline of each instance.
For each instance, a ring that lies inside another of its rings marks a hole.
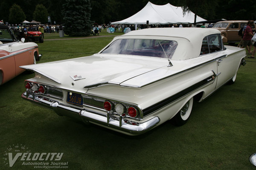
[[[63,4],[64,32],[70,36],[88,36],[91,33],[90,0],[66,0]]]

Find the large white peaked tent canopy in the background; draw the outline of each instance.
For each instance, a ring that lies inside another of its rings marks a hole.
[[[111,24],[173,24],[173,23],[194,23],[195,14],[190,11],[183,15],[181,7],[166,5],[155,5],[148,2],[147,5],[125,20],[112,22]],[[196,17],[196,22],[206,21],[204,18]]]

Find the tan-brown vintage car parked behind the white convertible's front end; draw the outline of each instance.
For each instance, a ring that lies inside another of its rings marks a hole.
[[[230,45],[234,45],[236,42],[241,41],[241,35],[239,30],[246,26],[248,21],[220,21],[215,23],[212,28],[216,28],[221,31],[222,40],[224,43],[228,42]]]

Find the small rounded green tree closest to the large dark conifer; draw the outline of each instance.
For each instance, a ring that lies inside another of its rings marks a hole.
[[[47,8],[45,8],[43,4],[36,5],[35,11],[33,13],[34,20],[41,23],[47,23],[48,21],[47,17],[48,17]]]

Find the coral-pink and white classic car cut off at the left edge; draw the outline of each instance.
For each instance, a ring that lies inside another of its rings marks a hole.
[[[0,85],[22,73],[19,66],[35,64],[40,57],[36,43],[21,42],[8,26],[0,25]]]

